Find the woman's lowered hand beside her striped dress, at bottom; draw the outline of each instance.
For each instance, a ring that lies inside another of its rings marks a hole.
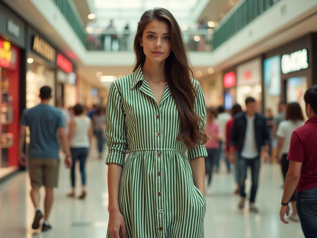
[[[120,238],[120,229],[124,238],[126,238],[126,222],[119,210],[109,211],[109,234],[110,238]]]

